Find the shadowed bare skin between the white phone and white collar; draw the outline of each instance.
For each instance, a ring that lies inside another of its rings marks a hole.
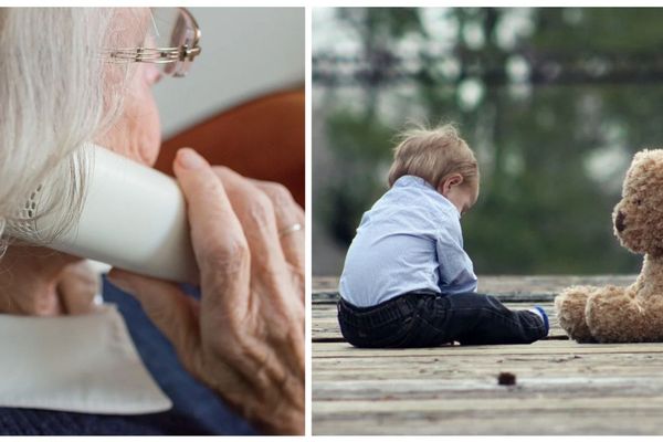
[[[99,277],[86,261],[46,248],[10,245],[0,259],[0,312],[57,316],[90,312]]]

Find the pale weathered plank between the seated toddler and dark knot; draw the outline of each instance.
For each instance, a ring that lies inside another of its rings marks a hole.
[[[381,357],[381,358],[315,358],[313,382],[316,394],[322,386],[337,382],[360,382],[376,387],[385,380],[389,386],[397,382],[425,383],[429,391],[439,382],[477,382],[495,386],[499,372],[516,376],[516,382],[527,379],[576,378],[591,383],[594,378],[659,378],[663,372],[663,354],[552,354],[552,355],[469,355],[455,357]],[[588,378],[589,377],[589,378]],[[429,385],[430,382],[430,385]],[[386,389],[389,386],[385,386]],[[372,388],[371,387],[371,388]],[[340,388],[340,387],[339,387]],[[415,391],[414,389],[411,392]]]

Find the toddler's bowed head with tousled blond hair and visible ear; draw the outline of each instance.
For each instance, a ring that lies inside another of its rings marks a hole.
[[[423,178],[461,213],[478,197],[478,166],[474,152],[451,124],[403,130],[393,150],[389,186],[404,175]]]

